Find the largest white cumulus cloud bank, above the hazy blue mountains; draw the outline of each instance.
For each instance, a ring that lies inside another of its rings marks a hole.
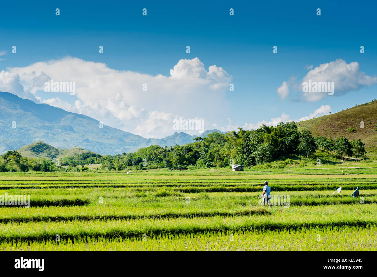
[[[2,75],[11,76],[13,81],[8,81],[3,91],[23,98],[29,94],[29,99],[35,94],[36,102],[85,114],[145,137],[171,135],[172,116],[213,122],[230,105],[226,91],[232,76],[217,65],[206,70],[199,58],[179,60],[170,76],[115,70],[101,62],[72,57],[8,70],[0,73],[0,86],[2,79],[6,80]],[[75,82],[75,95],[51,93],[46,97],[41,91],[49,80]],[[168,127],[162,128],[163,124]]]

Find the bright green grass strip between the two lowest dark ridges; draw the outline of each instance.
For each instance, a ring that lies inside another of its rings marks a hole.
[[[80,237],[141,237],[143,234],[189,234],[234,232],[237,230],[297,230],[301,228],[368,226],[377,224],[377,205],[358,207],[321,207],[313,211],[291,208],[290,212],[262,215],[211,216],[184,218],[147,218],[120,220],[73,220],[66,222],[6,222],[2,224],[0,241],[52,240],[56,234],[64,239]],[[355,213],[355,210],[357,213]],[[319,212],[320,211],[320,212]],[[302,213],[300,213],[302,212]],[[359,214],[363,216],[360,217]]]

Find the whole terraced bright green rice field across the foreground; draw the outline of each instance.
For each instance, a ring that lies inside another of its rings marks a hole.
[[[372,166],[7,173],[0,202],[2,251],[377,250]]]

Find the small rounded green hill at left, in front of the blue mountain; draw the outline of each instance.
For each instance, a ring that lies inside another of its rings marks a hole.
[[[60,149],[39,141],[29,145],[22,146],[20,149],[17,150],[17,152],[20,153],[23,157],[27,158],[43,157],[49,160],[55,160],[91,151],[87,151],[79,147],[74,147],[71,149]]]

